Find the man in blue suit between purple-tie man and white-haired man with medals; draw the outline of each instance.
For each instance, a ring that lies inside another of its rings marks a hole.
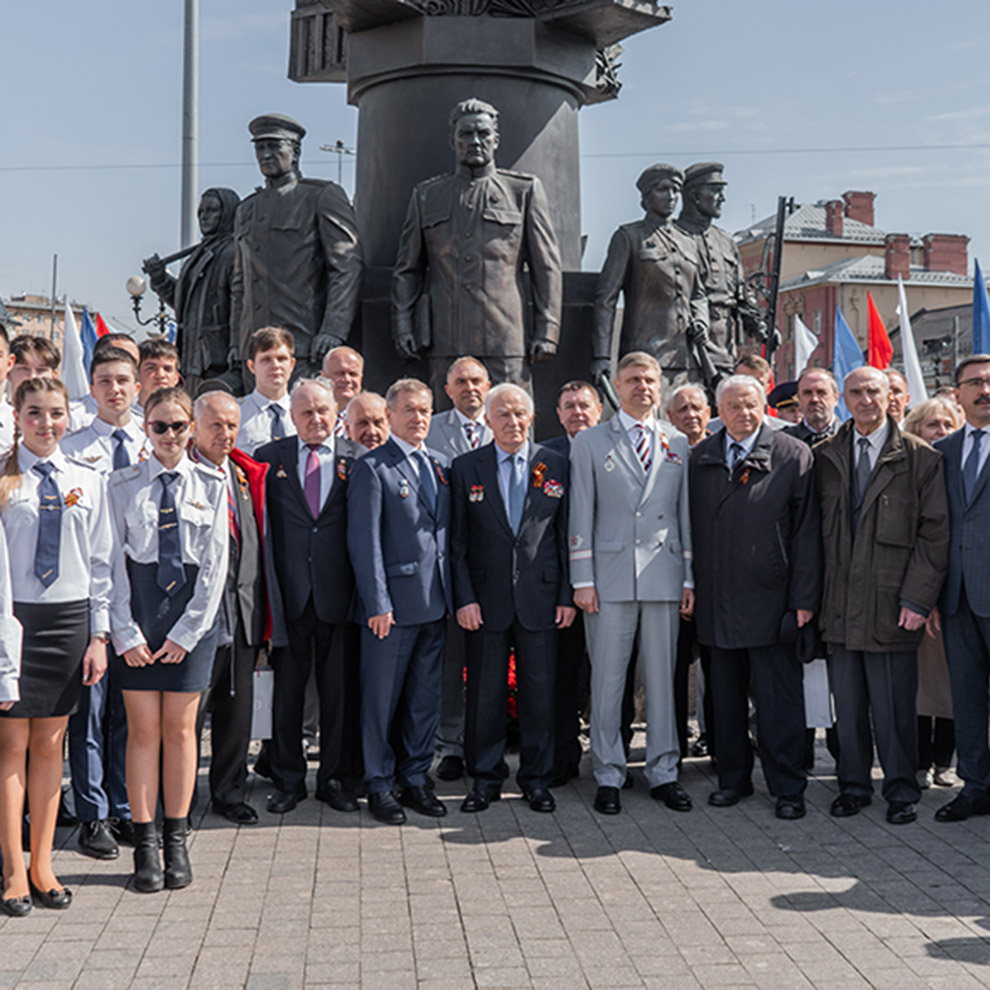
[[[447,464],[425,445],[433,398],[414,378],[385,396],[391,437],[354,463],[347,548],[361,629],[361,738],[368,807],[378,821],[447,813],[427,786],[440,720],[444,618],[450,609]],[[396,754],[394,731],[402,741]]]

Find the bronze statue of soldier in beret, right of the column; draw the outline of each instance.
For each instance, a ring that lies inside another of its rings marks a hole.
[[[688,381],[711,390],[724,372],[709,349],[708,297],[694,238],[671,219],[683,181],[679,168],[651,165],[636,180],[646,215],[612,235],[595,290],[591,373],[596,381],[611,373],[620,293],[619,356],[652,354],[663,372],[664,398]]]

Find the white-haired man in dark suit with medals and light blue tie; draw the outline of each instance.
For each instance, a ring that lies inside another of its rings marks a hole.
[[[516,780],[534,811],[550,812],[557,630],[576,615],[567,573],[568,460],[530,444],[533,400],[518,385],[496,385],[485,418],[494,444],[451,468],[454,606],[468,631],[464,749],[474,778],[461,810],[484,811],[499,798],[515,648]]]

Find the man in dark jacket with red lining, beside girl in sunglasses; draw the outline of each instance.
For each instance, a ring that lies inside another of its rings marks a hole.
[[[262,553],[268,465],[234,447],[240,423],[240,407],[232,395],[207,392],[196,400],[193,456],[205,458],[223,471],[230,523],[220,643],[210,687],[200,701],[199,729],[202,731],[209,711],[213,809],[235,825],[253,825],[258,813],[246,800],[246,763],[251,744],[254,662],[270,635]]]

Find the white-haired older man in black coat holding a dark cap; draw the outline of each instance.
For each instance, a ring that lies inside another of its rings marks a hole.
[[[716,393],[724,424],[691,454],[695,622],[711,647],[716,807],[753,793],[749,695],[778,818],[804,816],[804,691],[785,616],[809,623],[821,595],[821,523],[806,444],[762,423],[763,387],[732,375]]]

